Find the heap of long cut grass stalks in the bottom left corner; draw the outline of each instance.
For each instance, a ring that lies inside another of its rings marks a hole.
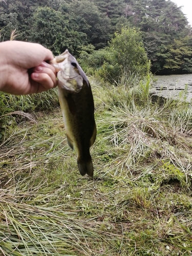
[[[97,241],[110,245],[114,237],[120,238],[109,231],[106,239],[106,232],[97,229],[98,222],[75,219],[78,211],[63,211],[67,205],[49,208],[9,202],[7,207],[7,203],[1,200],[5,255],[97,255]],[[90,241],[95,248],[89,247]]]

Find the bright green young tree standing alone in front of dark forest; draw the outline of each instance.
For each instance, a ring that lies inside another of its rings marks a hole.
[[[121,33],[116,32],[107,50],[99,74],[110,81],[119,79],[123,72],[143,77],[150,71],[141,33],[134,28],[122,28]]]

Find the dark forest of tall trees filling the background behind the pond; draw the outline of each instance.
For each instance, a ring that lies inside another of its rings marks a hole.
[[[66,48],[77,58],[86,53],[98,63],[94,69],[103,65],[103,51],[122,28],[140,32],[152,73],[192,72],[191,26],[181,7],[170,0],[0,2],[1,41],[16,29],[17,40],[39,42],[55,55]]]

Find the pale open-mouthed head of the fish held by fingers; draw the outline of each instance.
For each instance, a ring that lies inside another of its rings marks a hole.
[[[58,86],[70,93],[79,92],[83,86],[83,80],[89,84],[86,74],[68,50],[56,56],[50,63],[58,72]]]

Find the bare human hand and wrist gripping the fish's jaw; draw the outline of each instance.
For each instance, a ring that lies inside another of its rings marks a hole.
[[[47,63],[53,54],[32,42],[0,43],[0,91],[25,95],[57,86],[55,68]]]

